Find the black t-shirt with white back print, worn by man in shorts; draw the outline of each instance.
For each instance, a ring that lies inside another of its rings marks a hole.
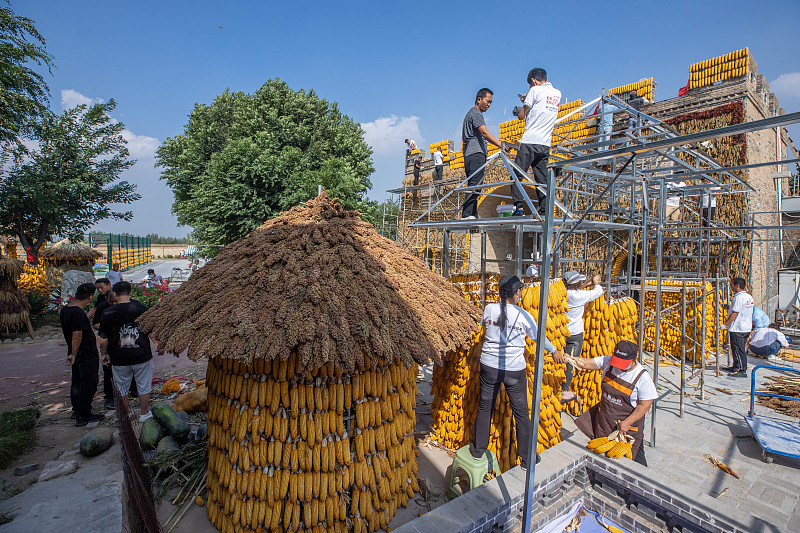
[[[112,305],[100,318],[100,336],[108,339],[108,356],[113,366],[145,363],[153,358],[150,339],[136,323],[147,306],[131,300]]]

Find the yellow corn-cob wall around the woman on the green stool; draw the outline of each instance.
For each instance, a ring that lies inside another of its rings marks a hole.
[[[538,317],[540,285],[534,283],[523,289],[520,305]],[[548,293],[547,338],[563,349],[566,341],[566,289],[561,280],[551,282]],[[433,369],[431,437],[445,448],[457,449],[472,441],[475,416],[480,399],[480,357],[483,331],[474,333],[469,347],[447,354],[442,366]],[[528,341],[525,350],[528,374],[528,406],[533,402],[533,377],[536,345]],[[561,384],[564,365],[545,356],[542,378],[541,413],[537,432],[538,451],[561,442]],[[498,394],[492,416],[489,449],[497,455],[500,469],[505,471],[518,464],[517,437],[511,404],[505,390]]]

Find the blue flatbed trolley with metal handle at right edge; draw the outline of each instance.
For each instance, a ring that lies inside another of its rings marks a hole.
[[[750,426],[750,429],[753,431],[753,437],[755,437],[763,450],[764,461],[767,463],[772,462],[772,456],[770,454],[786,455],[788,457],[800,459],[800,424],[798,424],[797,421],[769,416],[757,416],[755,413],[756,395],[795,401],[800,401],[800,398],[756,391],[756,372],[760,368],[779,370],[781,372],[794,372],[795,374],[800,374],[800,370],[773,365],[758,365],[753,368],[753,372],[750,376],[750,412],[744,417],[747,425]]]

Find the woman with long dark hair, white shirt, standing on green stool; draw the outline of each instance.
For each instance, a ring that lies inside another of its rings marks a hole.
[[[506,388],[514,413],[517,431],[517,453],[522,467],[528,467],[528,449],[531,439],[531,417],[528,411],[528,382],[525,361],[525,337],[536,340],[536,320],[517,306],[522,297],[523,283],[517,276],[503,276],[498,284],[500,301],[486,306],[481,326],[486,328],[481,350],[481,397],[475,418],[475,433],[470,452],[476,460],[486,454],[491,432],[492,409],[500,385]],[[544,348],[563,356],[546,338]],[[538,462],[538,455],[537,455]]]

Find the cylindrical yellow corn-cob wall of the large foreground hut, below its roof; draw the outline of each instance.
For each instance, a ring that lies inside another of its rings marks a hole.
[[[419,490],[417,366],[305,375],[287,360],[214,357],[208,516],[231,531],[386,530]]]

